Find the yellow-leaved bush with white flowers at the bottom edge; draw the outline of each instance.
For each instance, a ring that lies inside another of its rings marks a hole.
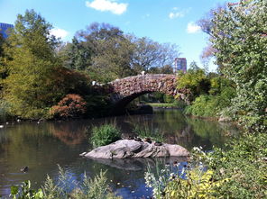
[[[216,188],[228,179],[216,180],[212,169],[203,168],[202,164],[194,165],[193,168],[180,164],[161,168],[157,162],[155,171],[152,172],[151,167],[148,167],[144,179],[146,185],[152,187],[155,199],[215,198],[213,194]]]

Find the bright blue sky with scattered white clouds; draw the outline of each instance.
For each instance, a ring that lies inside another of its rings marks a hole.
[[[197,22],[224,3],[226,0],[0,0],[0,23],[14,24],[17,14],[33,9],[53,25],[51,33],[62,41],[71,41],[90,23],[110,23],[124,33],[177,44],[188,66],[196,61],[202,67],[199,56],[208,37]],[[216,70],[212,61],[209,70]]]

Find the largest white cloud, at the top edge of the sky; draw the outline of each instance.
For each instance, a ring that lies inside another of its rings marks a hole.
[[[86,2],[86,6],[101,12],[110,11],[113,14],[124,14],[128,4],[118,4],[115,0],[93,0]]]

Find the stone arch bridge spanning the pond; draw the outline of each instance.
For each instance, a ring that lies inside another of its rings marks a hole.
[[[152,92],[167,95],[178,95],[184,98],[184,92],[176,88],[176,76],[167,74],[140,75],[116,79],[109,83],[113,108],[111,114],[123,114],[125,106],[134,98]]]

